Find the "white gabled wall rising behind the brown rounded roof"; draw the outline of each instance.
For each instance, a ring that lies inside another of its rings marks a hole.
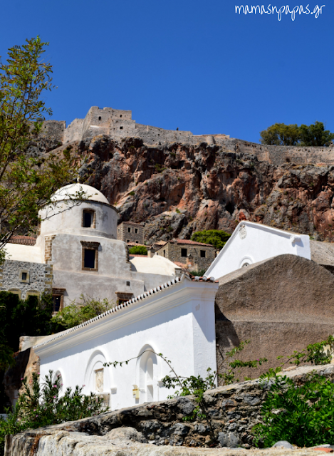
[[[241,222],[205,275],[215,279],[277,255],[310,259],[310,237],[254,222]]]

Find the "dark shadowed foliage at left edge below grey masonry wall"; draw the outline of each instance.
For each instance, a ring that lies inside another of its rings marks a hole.
[[[19,350],[19,337],[27,334],[46,336],[51,333],[52,296],[43,294],[19,296],[0,291],[0,369],[14,364],[14,352]]]

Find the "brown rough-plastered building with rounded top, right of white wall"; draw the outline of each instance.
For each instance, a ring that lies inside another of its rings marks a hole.
[[[314,261],[279,255],[222,277],[216,294],[217,365],[240,341],[251,342],[238,358],[268,358],[253,377],[278,366],[277,356],[291,356],[334,332],[334,275]]]

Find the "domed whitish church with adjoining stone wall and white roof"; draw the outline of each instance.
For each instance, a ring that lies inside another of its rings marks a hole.
[[[85,199],[73,202],[82,190]],[[179,268],[164,258],[132,264],[127,245],[117,239],[115,207],[93,187],[68,185],[53,195],[53,203],[40,212],[37,239],[19,237],[6,245],[2,290],[22,298],[52,290],[58,311],[81,294],[127,301],[176,276]]]

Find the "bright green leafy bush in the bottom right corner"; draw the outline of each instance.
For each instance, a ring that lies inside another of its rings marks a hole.
[[[288,440],[299,447],[334,442],[334,385],[310,373],[303,385],[276,375],[261,409],[263,423],[254,427],[256,445],[271,447]]]

